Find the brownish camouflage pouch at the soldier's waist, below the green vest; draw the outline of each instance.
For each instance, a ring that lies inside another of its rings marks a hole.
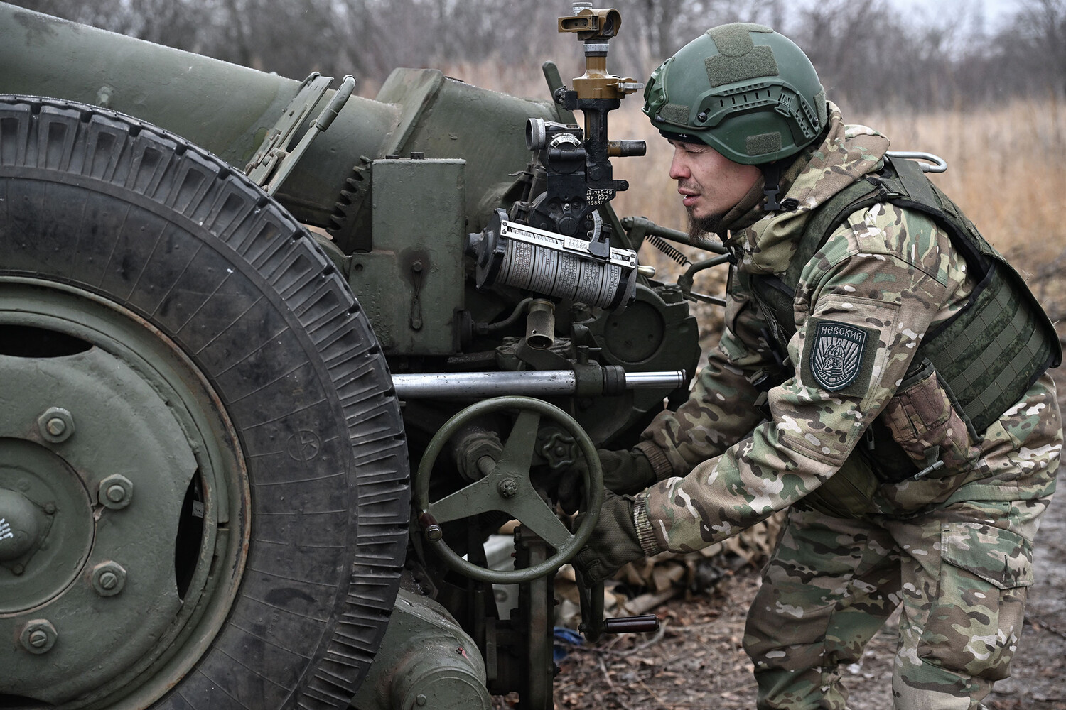
[[[903,380],[881,418],[922,476],[957,473],[981,453],[928,361]]]

